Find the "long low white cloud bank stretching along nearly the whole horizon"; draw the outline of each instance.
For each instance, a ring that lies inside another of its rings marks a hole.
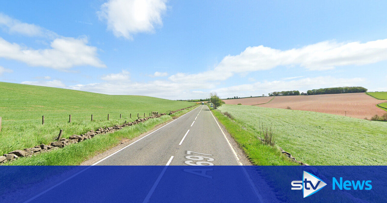
[[[334,78],[315,77],[300,80],[275,80],[255,82],[231,87],[217,88],[212,83],[171,82],[168,80],[154,80],[149,82],[134,82],[129,80],[130,73],[123,70],[121,73],[105,75],[106,80],[101,83],[77,84],[66,86],[60,80],[43,82],[22,82],[22,84],[41,85],[48,87],[62,87],[66,89],[96,92],[110,95],[142,95],[164,99],[203,99],[209,92],[216,91],[223,98],[239,96],[259,96],[274,91],[300,90],[324,87],[358,86],[365,82],[364,78]]]

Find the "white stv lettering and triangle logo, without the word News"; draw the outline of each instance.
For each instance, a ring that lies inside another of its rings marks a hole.
[[[305,198],[324,188],[327,184],[313,174],[304,171],[302,175],[302,181],[292,181],[291,185],[293,186],[291,188],[292,190],[302,189],[302,193]]]

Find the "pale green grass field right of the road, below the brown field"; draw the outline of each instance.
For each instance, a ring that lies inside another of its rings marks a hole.
[[[259,122],[271,125],[276,145],[310,165],[387,165],[387,122],[244,105],[224,104],[219,110],[246,128],[247,140],[257,136]]]

